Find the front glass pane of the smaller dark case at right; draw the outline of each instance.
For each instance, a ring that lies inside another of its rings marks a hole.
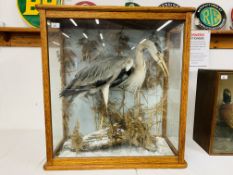
[[[233,74],[219,77],[213,153],[233,153]]]

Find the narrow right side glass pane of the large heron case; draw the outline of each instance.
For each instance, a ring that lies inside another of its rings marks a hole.
[[[178,150],[180,124],[181,74],[184,25],[168,32],[169,36],[169,81],[167,92],[167,137]]]

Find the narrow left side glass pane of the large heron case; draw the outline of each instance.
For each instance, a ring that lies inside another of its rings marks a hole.
[[[63,105],[62,99],[58,98],[62,87],[62,66],[60,56],[62,51],[62,37],[60,30],[49,31],[49,72],[50,72],[50,91],[51,91],[51,114],[53,132],[53,150],[61,144],[64,138],[63,129]]]

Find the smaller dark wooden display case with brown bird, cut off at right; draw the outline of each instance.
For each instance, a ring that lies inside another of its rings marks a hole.
[[[233,72],[199,70],[194,140],[211,155],[233,154]]]

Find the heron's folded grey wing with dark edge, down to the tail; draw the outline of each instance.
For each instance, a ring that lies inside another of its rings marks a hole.
[[[91,62],[78,71],[71,83],[61,92],[60,96],[69,96],[104,86],[113,77],[118,77],[124,67],[123,58],[104,58]]]

